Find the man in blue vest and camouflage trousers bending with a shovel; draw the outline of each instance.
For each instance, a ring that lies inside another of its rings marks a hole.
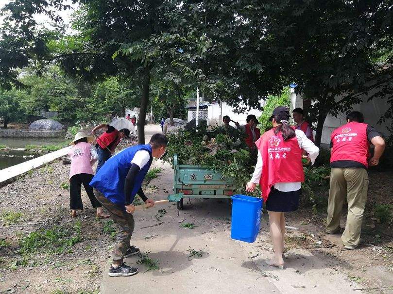
[[[138,194],[145,203],[154,206],[154,200],[148,199],[141,184],[152,164],[153,157],[160,158],[167,147],[168,139],[162,134],[154,134],[149,144],[125,148],[107,162],[96,173],[90,186],[94,195],[109,212],[118,227],[115,247],[112,251],[110,277],[132,276],[138,270],[123,262],[123,258],[139,253],[139,249],[130,245],[134,231],[135,211],[132,202]]]

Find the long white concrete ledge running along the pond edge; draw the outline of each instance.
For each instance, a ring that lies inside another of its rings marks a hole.
[[[40,157],[36,157],[32,160],[28,160],[24,163],[19,163],[2,169],[0,172],[0,186],[6,183],[8,180],[11,180],[19,175],[22,175],[31,169],[40,167],[46,163],[50,163],[53,160],[66,155],[68,153],[68,148],[69,147],[65,147],[60,150],[42,155]]]

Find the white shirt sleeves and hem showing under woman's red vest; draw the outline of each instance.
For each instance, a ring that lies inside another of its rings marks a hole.
[[[311,160],[311,164],[314,164],[315,159],[319,154],[319,148],[312,143],[310,139],[307,138],[306,134],[301,130],[295,130],[297,143],[299,147],[303,150],[306,150],[308,153],[308,157]],[[256,162],[255,171],[251,182],[258,184],[259,179],[262,175],[262,156],[258,151],[258,160]],[[301,182],[289,182],[289,183],[275,183],[274,188],[281,192],[290,192],[290,191],[297,191],[302,187]]]

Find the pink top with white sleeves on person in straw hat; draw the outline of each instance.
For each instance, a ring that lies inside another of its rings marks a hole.
[[[71,158],[71,169],[69,178],[77,174],[90,174],[94,175],[93,168],[91,167],[98,159],[97,152],[94,147],[85,142],[80,142],[73,145],[68,152]]]

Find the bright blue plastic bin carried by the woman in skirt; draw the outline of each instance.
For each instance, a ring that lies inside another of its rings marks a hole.
[[[234,195],[232,198],[231,238],[253,243],[259,232],[262,198]]]

